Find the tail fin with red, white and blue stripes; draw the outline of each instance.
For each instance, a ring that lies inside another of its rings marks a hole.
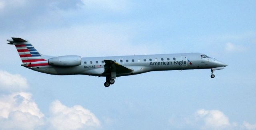
[[[23,66],[30,66],[33,62],[46,61],[29,41],[15,37],[7,41],[10,41],[10,43],[7,44],[15,45]]]

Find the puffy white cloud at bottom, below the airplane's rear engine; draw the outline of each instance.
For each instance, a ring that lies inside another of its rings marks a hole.
[[[54,129],[76,130],[100,126],[98,118],[79,105],[67,107],[59,100],[55,100],[50,106],[50,112],[50,123]]]

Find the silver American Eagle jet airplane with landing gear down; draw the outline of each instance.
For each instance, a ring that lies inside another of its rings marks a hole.
[[[176,53],[157,55],[128,55],[112,57],[83,57],[79,55],[47,56],[22,38],[7,39],[15,45],[23,67],[51,75],[91,75],[106,77],[105,87],[115,83],[116,77],[137,75],[150,71],[187,69],[224,69],[227,65],[202,53]]]

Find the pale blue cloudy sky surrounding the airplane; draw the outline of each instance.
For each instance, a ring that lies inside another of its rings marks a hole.
[[[0,129],[256,130],[255,0],[0,0]],[[44,55],[200,52],[228,66],[118,77],[26,69]]]

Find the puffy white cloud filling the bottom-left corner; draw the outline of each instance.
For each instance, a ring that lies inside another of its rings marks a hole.
[[[0,98],[0,129],[32,130],[44,124],[43,117],[30,93],[12,93]]]

